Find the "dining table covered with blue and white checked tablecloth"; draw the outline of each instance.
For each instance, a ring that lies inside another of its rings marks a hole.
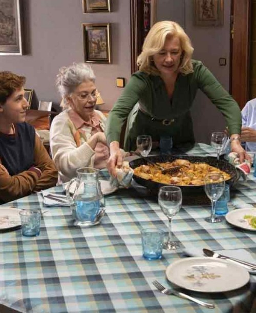
[[[212,156],[214,149],[195,144],[174,154]],[[109,180],[106,170],[100,178]],[[65,194],[63,186],[49,191]],[[74,225],[70,206],[45,207],[40,192],[5,203],[5,207],[41,209],[40,234],[22,236],[19,227],[0,231],[0,312],[256,312],[256,275],[243,287],[225,292],[198,292],[174,286],[166,268],[188,258],[185,249],[250,252],[256,263],[256,232],[235,227],[225,219],[211,224],[209,203],[182,205],[172,222],[177,250],[163,250],[159,260],[142,256],[141,230],[155,227],[167,235],[168,220],[155,194],[132,182],[104,196],[105,214],[98,225]],[[253,168],[230,189],[229,211],[256,207]],[[208,309],[159,292],[154,280],[215,305]]]

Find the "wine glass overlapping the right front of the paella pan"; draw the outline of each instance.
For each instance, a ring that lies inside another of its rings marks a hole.
[[[204,179],[204,190],[207,197],[211,201],[211,216],[206,218],[205,221],[208,223],[219,223],[222,221],[222,218],[215,216],[215,205],[217,200],[221,197],[224,187],[225,180],[224,176],[221,173],[212,172],[207,174]]]

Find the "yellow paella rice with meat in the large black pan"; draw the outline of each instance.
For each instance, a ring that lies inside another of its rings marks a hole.
[[[179,170],[174,173],[162,173],[157,166],[147,164],[140,165],[134,169],[134,174],[138,177],[151,180],[166,185],[179,186],[201,186],[204,185],[205,175],[208,173],[218,172],[224,176],[225,181],[231,177],[228,173],[207,163],[191,163],[187,160],[175,160],[173,162],[156,163],[165,169],[180,166]]]

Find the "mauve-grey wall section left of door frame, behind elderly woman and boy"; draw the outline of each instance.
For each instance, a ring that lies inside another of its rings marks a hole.
[[[0,56],[0,70],[27,77],[26,88],[34,89],[38,100],[60,102],[55,77],[61,66],[83,62],[81,23],[111,23],[112,64],[91,64],[96,85],[109,109],[122,88],[118,76],[130,77],[130,2],[112,0],[110,13],[82,13],[81,0],[24,0],[24,42],[22,56]],[[37,105],[35,97],[33,105]]]

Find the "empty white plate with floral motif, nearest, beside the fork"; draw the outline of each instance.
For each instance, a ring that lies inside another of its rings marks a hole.
[[[250,275],[240,265],[212,258],[186,258],[170,264],[166,277],[175,285],[200,292],[225,292],[248,283]]]

